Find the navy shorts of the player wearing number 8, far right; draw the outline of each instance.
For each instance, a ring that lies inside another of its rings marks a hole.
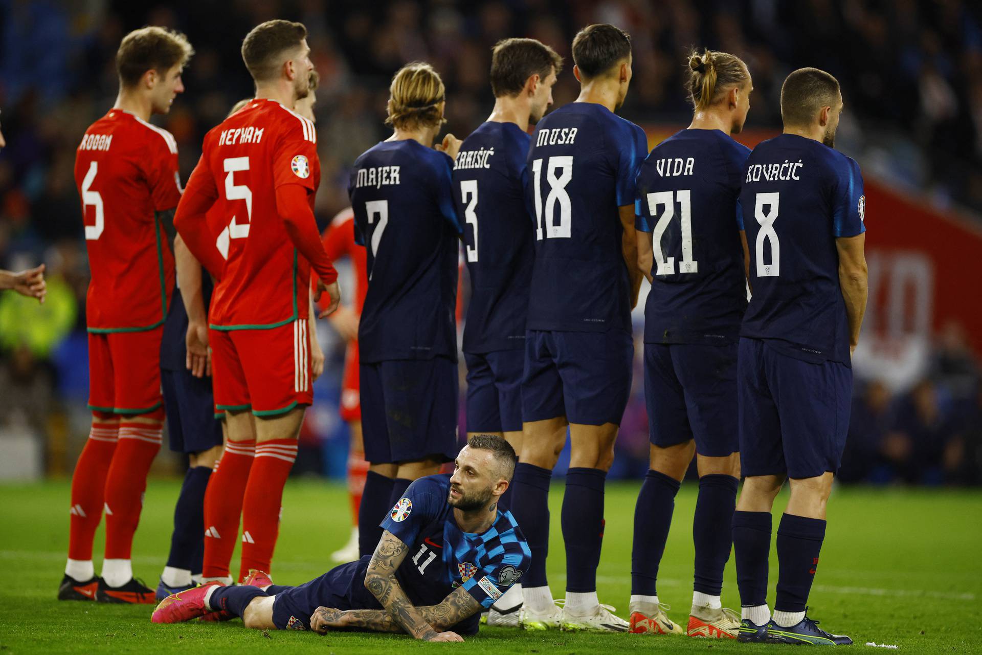
[[[852,369],[739,340],[739,451],[743,475],[793,479],[835,473],[846,448]]]

